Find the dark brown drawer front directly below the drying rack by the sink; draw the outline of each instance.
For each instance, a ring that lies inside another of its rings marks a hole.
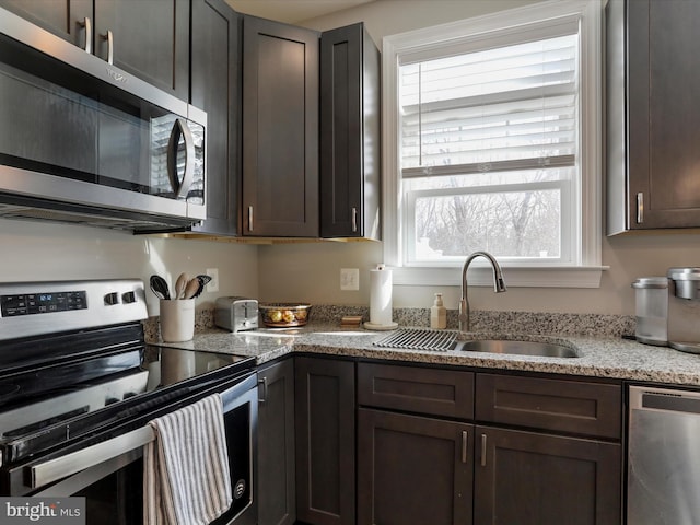
[[[371,407],[471,419],[474,373],[360,363],[358,401]]]

